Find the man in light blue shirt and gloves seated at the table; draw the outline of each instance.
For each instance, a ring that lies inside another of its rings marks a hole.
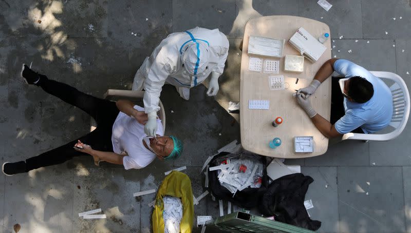
[[[329,122],[315,112],[308,97],[333,71],[344,77],[332,77]],[[344,59],[325,62],[311,84],[298,90],[296,98],[327,138],[348,132],[373,133],[386,127],[393,116],[393,96],[387,85],[368,70]]]

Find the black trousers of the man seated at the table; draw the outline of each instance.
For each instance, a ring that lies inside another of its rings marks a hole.
[[[345,115],[344,110],[344,95],[341,93],[340,84],[338,81],[344,79],[345,77],[331,77],[331,125],[335,124],[340,118]],[[364,131],[358,127],[351,132],[353,133],[364,133]]]

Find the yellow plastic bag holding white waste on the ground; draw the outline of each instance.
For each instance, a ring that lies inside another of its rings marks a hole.
[[[164,196],[181,198],[181,203],[183,205],[183,217],[180,222],[180,232],[191,233],[194,220],[194,204],[190,178],[180,171],[172,171],[168,176],[164,178],[163,182],[161,183],[158,189],[156,196],[156,204],[154,205],[154,233],[164,232]]]

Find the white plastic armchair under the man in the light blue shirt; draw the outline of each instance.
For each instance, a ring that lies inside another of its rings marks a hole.
[[[409,115],[409,92],[404,80],[395,73],[385,71],[370,71],[373,75],[381,79],[388,79],[395,83],[389,87],[393,94],[393,118],[389,123],[395,129],[389,133],[371,134],[371,133],[346,133],[342,140],[372,140],[372,141],[388,141],[395,139],[404,130],[408,121]]]

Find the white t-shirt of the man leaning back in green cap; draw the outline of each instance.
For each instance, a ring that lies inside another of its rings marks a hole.
[[[144,108],[138,105],[135,105],[134,108],[138,111],[144,111]],[[157,119],[156,134],[164,135],[160,119]],[[123,165],[126,170],[143,168],[156,158],[156,154],[143,145],[144,137],[147,137],[147,134],[144,133],[144,125],[124,112],[119,112],[113,124],[111,142],[113,142],[115,153],[128,155],[123,157]]]

